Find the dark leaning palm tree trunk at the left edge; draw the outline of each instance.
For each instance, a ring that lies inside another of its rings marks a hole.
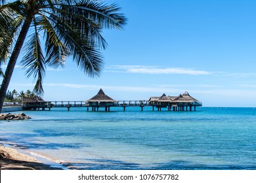
[[[21,50],[21,48],[24,44],[24,41],[26,39],[28,29],[30,29],[31,22],[32,22],[32,17],[28,16],[22,26],[22,30],[20,31],[20,35],[18,36],[18,40],[17,40],[17,42],[14,46],[14,49],[12,51],[11,58],[9,59],[9,63],[7,65],[7,69],[5,71],[5,75],[3,77],[3,82],[1,84],[1,89],[0,89],[0,113],[2,112],[3,103],[5,101],[5,95],[6,95],[9,83],[11,81],[11,77],[12,77],[14,67],[16,65],[16,61],[18,59],[20,50]]]

